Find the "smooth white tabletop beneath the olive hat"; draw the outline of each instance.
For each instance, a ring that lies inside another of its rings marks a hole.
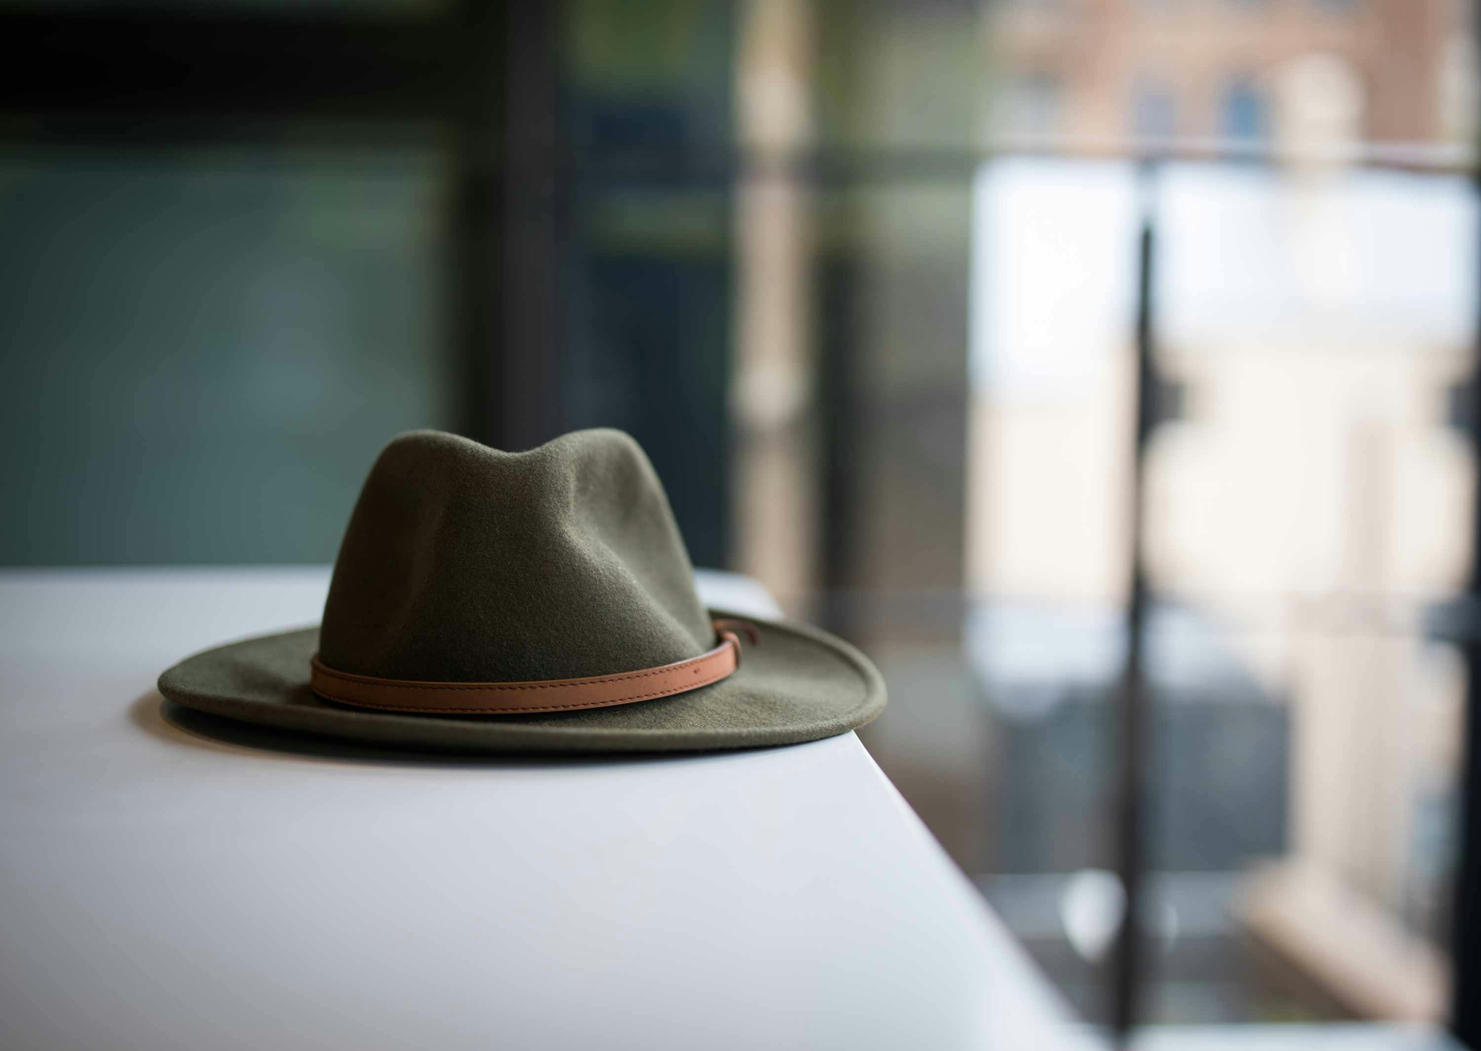
[[[0,574],[0,1047],[1081,1042],[853,734],[432,759],[161,715],[164,666],[326,582]]]

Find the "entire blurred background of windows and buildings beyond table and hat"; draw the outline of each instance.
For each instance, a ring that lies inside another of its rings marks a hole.
[[[1477,80],[1469,0],[0,0],[0,563],[619,426],[1083,1017],[1481,1045]]]

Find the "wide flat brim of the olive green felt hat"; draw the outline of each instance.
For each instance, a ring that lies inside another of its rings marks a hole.
[[[714,617],[738,617],[711,610]],[[755,625],[729,678],[631,705],[544,715],[410,715],[323,700],[308,688],[318,628],[231,642],[160,675],[160,693],[212,715],[432,752],[681,752],[797,745],[865,725],[884,679],[852,645],[806,625]]]

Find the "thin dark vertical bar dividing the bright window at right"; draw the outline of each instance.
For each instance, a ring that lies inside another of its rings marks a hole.
[[[1143,893],[1146,870],[1148,690],[1143,668],[1148,586],[1142,558],[1146,446],[1157,423],[1157,373],[1152,360],[1152,277],[1155,229],[1152,194],[1155,169],[1140,172],[1145,213],[1137,246],[1136,286],[1136,406],[1131,466],[1131,591],[1126,608],[1126,663],[1117,691],[1115,863],[1126,891],[1126,913],[1117,934],[1111,974],[1111,1029],[1124,1045],[1139,1018],[1145,983]]]

